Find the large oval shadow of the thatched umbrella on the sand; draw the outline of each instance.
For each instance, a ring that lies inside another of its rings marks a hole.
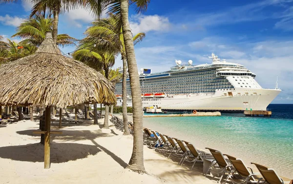
[[[101,149],[80,143],[50,143],[50,162],[64,163],[96,155]],[[66,154],[69,153],[69,154]],[[70,154],[74,153],[74,154]],[[44,146],[41,143],[0,147],[0,157],[15,161],[43,162]]]

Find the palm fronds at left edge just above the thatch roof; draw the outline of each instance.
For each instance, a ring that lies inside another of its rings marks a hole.
[[[7,42],[0,41],[0,47],[0,63],[15,61],[31,55],[37,50],[37,47],[34,45],[23,45],[22,47],[19,47],[17,42],[10,39],[7,39]]]

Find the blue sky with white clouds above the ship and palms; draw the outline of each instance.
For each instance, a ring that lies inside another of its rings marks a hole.
[[[29,1],[1,4],[0,35],[13,35],[30,8]],[[60,17],[59,33],[82,39],[92,20],[82,8],[71,10]],[[129,20],[133,34],[146,33],[135,46],[139,69],[165,71],[175,60],[210,63],[214,52],[245,65],[263,88],[274,88],[278,76],[283,91],[273,102],[293,103],[293,0],[151,0],[142,15],[130,9]]]

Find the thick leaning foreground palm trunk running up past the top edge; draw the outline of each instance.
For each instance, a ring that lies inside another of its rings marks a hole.
[[[135,60],[132,34],[128,21],[128,0],[120,1],[123,37],[126,50],[128,73],[133,108],[133,149],[128,168],[137,172],[145,172],[144,166],[144,140],[143,140],[143,103]]]

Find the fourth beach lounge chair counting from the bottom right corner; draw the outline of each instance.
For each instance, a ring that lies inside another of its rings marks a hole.
[[[192,167],[191,167],[190,170],[193,169],[194,164],[195,164],[196,162],[203,162],[203,161],[204,161],[204,158],[206,158],[206,159],[213,159],[213,156],[212,156],[211,154],[209,154],[209,153],[205,153],[205,152],[202,152],[202,151],[197,150],[197,149],[196,149],[191,143],[188,143],[188,144],[186,144],[186,145],[187,145],[187,147],[188,147],[188,149],[189,149],[189,152],[188,152],[188,154],[184,157],[184,159],[183,159],[181,165],[182,165],[185,161],[187,161],[187,162],[189,162],[189,163],[193,163],[193,164],[192,164]]]

